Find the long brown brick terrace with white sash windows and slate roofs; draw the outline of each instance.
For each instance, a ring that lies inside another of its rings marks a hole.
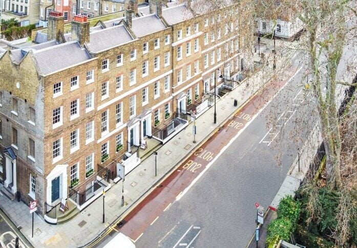
[[[71,34],[51,12],[47,42],[1,50],[0,180],[26,203],[38,200],[48,222],[61,198],[90,204],[117,164],[127,174],[140,163],[146,139],[164,143],[187,113],[208,108],[214,77],[243,69],[227,17],[238,17],[234,6],[195,13],[161,3],[131,1],[125,17],[93,28],[76,15]]]

